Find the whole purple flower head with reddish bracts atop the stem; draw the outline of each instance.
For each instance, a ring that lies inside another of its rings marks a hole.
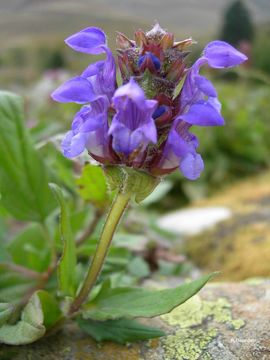
[[[212,41],[187,68],[192,39],[175,42],[156,24],[147,33],[137,31],[135,40],[118,33],[122,84],[117,85],[116,63],[101,29],[84,29],[66,43],[106,58],[52,94],[56,101],[83,105],[63,140],[64,155],[72,158],[86,149],[103,164],[124,164],[156,176],[179,168],[188,179],[198,178],[203,160],[190,127],[224,124],[216,90],[200,69],[233,67],[247,57],[223,41]]]

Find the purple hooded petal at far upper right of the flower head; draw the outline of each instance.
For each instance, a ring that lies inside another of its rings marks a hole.
[[[247,56],[225,41],[212,41],[204,49],[203,56],[213,68],[228,68],[242,64]]]

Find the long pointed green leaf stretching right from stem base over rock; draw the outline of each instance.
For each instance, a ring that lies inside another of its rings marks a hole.
[[[154,317],[170,312],[195,295],[216,273],[202,276],[174,289],[111,288],[105,282],[100,293],[85,305],[83,317],[94,320]]]

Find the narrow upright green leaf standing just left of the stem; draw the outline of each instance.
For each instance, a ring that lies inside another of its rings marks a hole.
[[[68,208],[60,187],[51,183],[50,188],[61,209],[60,233],[63,241],[63,254],[57,268],[59,290],[65,295],[74,296],[76,285],[76,248],[71,231]]]

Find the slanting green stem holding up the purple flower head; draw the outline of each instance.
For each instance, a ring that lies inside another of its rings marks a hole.
[[[121,216],[123,215],[128,205],[129,200],[130,194],[124,194],[122,192],[119,192],[116,195],[110,212],[107,216],[106,222],[104,224],[100,240],[97,245],[92,262],[89,266],[87,275],[85,277],[79,294],[75,298],[74,302],[71,304],[69,314],[73,314],[79,309],[79,307],[86,300],[89,292],[95,285],[97,277],[102,269],[104,260],[106,258],[108,249],[110,247],[113,234],[121,219]]]

